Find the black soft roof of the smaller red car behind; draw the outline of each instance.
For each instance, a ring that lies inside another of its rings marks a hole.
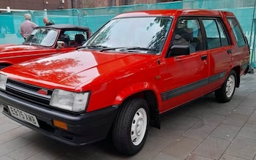
[[[54,24],[50,26],[37,26],[36,28],[55,28],[55,29],[62,29],[67,31],[77,30],[77,31],[87,31],[89,30],[88,27],[85,26],[75,26],[72,24]]]

